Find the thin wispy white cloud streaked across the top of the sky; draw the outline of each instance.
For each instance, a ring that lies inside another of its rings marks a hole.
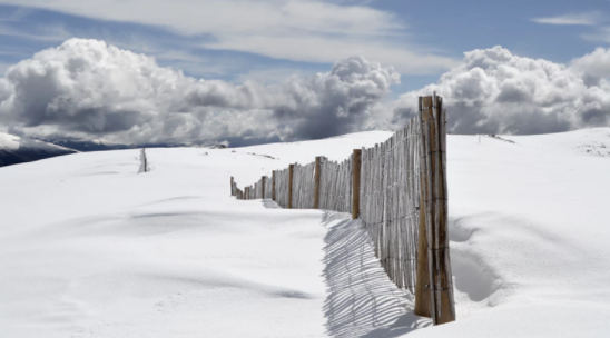
[[[410,46],[405,24],[364,4],[293,0],[0,0],[94,19],[166,27],[201,39],[213,49],[246,51],[307,62],[334,62],[351,54],[392,63],[404,73],[436,73],[451,58]],[[132,47],[131,47],[132,48]]]

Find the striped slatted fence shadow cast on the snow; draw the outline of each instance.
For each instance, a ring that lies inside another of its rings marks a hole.
[[[432,325],[413,314],[413,297],[397,288],[382,268],[361,220],[350,213],[324,211],[324,304],[333,337],[397,337]]]

